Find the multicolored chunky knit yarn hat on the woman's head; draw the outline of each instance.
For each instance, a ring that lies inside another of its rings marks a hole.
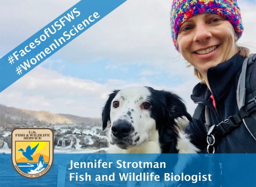
[[[173,0],[171,10],[171,29],[174,46],[177,50],[178,31],[183,22],[200,13],[218,14],[234,27],[239,39],[243,33],[240,9],[236,0]]]

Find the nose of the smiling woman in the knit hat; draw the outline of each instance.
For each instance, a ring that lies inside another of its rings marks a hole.
[[[205,23],[200,23],[196,25],[194,42],[205,42],[206,40],[209,40],[211,37],[212,33],[210,32],[209,28],[207,28],[207,25]]]

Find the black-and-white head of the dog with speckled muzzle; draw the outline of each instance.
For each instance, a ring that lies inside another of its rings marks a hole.
[[[103,107],[102,128],[110,123],[109,141],[121,149],[141,145],[158,130],[162,152],[175,152],[178,128],[175,119],[192,120],[182,99],[169,91],[150,87],[114,90]]]

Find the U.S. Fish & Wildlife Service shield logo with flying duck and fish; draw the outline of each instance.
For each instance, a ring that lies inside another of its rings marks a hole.
[[[37,178],[53,164],[51,129],[14,129],[12,131],[12,165],[22,176]]]

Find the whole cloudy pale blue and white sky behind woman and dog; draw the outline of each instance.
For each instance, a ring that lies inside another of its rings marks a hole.
[[[0,56],[10,52],[78,0],[2,1]],[[0,104],[35,111],[100,117],[114,89],[150,86],[180,95],[193,115],[199,81],[174,49],[170,0],[129,0],[9,88]],[[256,1],[238,0],[244,33],[238,45],[256,53]],[[12,14],[10,14],[12,12]]]

